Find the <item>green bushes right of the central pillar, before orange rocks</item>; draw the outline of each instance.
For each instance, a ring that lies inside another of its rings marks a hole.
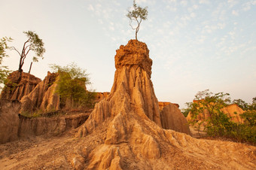
[[[244,123],[234,123],[227,114],[221,111],[221,108],[230,104],[228,93],[211,93],[209,90],[204,90],[197,93],[195,101],[187,103],[187,111],[191,113],[190,124],[198,122],[198,116],[202,113],[208,113],[209,118],[203,120],[206,123],[205,130],[209,136],[223,136],[233,138],[236,141],[250,142],[256,144],[256,111],[246,111],[241,114],[244,118]],[[246,106],[242,100],[234,100]],[[246,106],[247,107],[247,106]],[[202,115],[201,115],[202,116]]]

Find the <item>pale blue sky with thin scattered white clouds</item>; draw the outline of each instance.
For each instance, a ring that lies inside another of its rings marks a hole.
[[[138,38],[153,59],[159,101],[183,108],[206,89],[245,102],[256,96],[256,0],[136,2],[148,6]],[[32,74],[43,79],[49,64],[76,62],[90,73],[91,89],[109,92],[115,50],[135,38],[125,16],[132,5],[133,0],[0,0],[0,37],[14,38],[11,45],[21,50],[23,31],[35,31],[46,53]],[[19,56],[9,55],[5,65],[17,70]]]

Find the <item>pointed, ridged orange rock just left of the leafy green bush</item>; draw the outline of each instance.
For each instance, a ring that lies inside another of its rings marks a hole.
[[[59,110],[59,95],[56,94],[56,77],[57,73],[50,73],[48,71],[44,80],[38,83],[31,93],[23,96],[20,100],[20,112],[32,112],[35,109],[41,109],[41,111]]]

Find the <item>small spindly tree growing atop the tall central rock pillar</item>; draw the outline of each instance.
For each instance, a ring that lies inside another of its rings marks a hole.
[[[147,20],[148,18],[148,7],[141,8],[140,6],[136,5],[135,0],[133,0],[133,11],[128,11],[128,14],[126,14],[126,17],[130,19],[130,26],[132,29],[136,30],[136,40],[137,40],[137,34],[139,32],[139,26],[142,23],[142,20]],[[136,28],[133,28],[132,22],[136,21],[138,24]]]

